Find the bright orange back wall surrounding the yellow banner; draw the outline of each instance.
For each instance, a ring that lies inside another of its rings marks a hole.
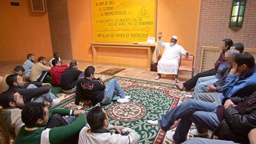
[[[90,1],[68,0],[69,24],[73,59],[92,60],[91,4]],[[163,41],[169,41],[173,34],[178,36],[178,43],[191,54],[196,53],[197,32],[199,27],[200,0],[158,0],[157,31],[162,31]],[[102,52],[100,52],[102,51]],[[163,49],[161,48],[163,52]],[[125,52],[130,56],[120,56],[121,50],[99,50],[99,62],[145,65],[146,52],[132,50]],[[136,55],[138,53],[138,55]],[[117,56],[119,55],[119,56]],[[122,54],[125,55],[125,54]],[[122,58],[124,57],[124,58]]]

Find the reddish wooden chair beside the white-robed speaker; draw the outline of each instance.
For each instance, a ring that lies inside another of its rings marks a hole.
[[[185,66],[183,65],[182,61],[191,61],[191,66]],[[177,72],[177,78],[175,80],[175,82],[178,81],[178,73],[180,71],[187,71],[187,72],[191,72],[191,78],[194,76],[194,56],[193,55],[181,55],[180,57],[180,66],[178,68],[178,72]]]

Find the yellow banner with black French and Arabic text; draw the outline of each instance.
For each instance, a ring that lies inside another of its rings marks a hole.
[[[94,42],[141,42],[155,37],[155,0],[92,0]]]

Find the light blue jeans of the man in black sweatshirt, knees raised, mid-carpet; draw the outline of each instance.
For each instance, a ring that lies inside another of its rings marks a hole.
[[[117,92],[117,95],[114,94],[114,91]],[[111,79],[111,81],[108,82],[107,87],[104,89],[104,99],[102,104],[109,104],[111,103],[111,100],[117,100],[124,97],[125,95],[123,89],[120,87],[119,83],[116,81],[116,79]]]

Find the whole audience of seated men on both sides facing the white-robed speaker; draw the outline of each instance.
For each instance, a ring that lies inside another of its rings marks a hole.
[[[254,57],[243,52],[241,43],[233,44],[231,39],[223,41],[225,46],[215,69],[198,73],[184,84],[176,84],[181,90],[194,87],[191,98],[161,119],[148,120],[148,124],[159,126],[165,132],[180,120],[174,135],[166,136],[172,142],[225,143],[222,140],[232,140],[249,143],[254,140],[251,138],[256,128]],[[39,57],[38,63],[31,66],[28,63],[34,62],[34,55],[30,54],[25,66],[17,66],[14,74],[4,77],[2,83],[6,82],[9,87],[0,95],[2,142],[9,143],[11,137],[14,143],[136,143],[140,139],[138,133],[127,127],[111,125],[106,111],[99,106],[111,101],[129,102],[130,97],[125,95],[119,83],[113,79],[105,87],[100,78],[95,78],[93,66],[88,66],[82,73],[76,61],[72,60],[67,66],[59,59],[55,53],[52,68],[46,66],[44,57]],[[27,82],[23,81],[24,73]],[[60,85],[64,92],[76,92],[76,105],[80,100],[90,100],[95,107],[86,116],[84,110],[49,110],[43,102],[55,105],[59,100],[50,92],[52,86],[42,83],[47,75],[52,76],[53,85]],[[63,116],[69,117],[63,119]],[[190,131],[193,135],[207,135],[211,130],[220,140],[186,141],[192,123],[197,126],[197,130]],[[116,133],[111,133],[111,129]]]

